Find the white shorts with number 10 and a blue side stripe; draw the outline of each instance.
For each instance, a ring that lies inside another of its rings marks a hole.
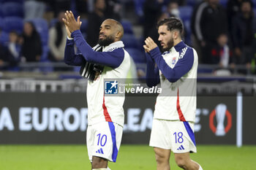
[[[102,122],[89,125],[86,133],[86,143],[89,160],[92,156],[116,162],[116,157],[121,144],[123,127],[113,122]]]

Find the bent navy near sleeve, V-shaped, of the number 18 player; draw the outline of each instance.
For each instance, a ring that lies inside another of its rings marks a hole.
[[[161,70],[162,74],[167,78],[169,82],[178,81],[184,74],[187,74],[189,70],[192,68],[194,63],[194,54],[191,48],[187,48],[186,53],[182,58],[178,59],[178,62],[173,67],[167,65],[165,59],[162,58],[162,54],[159,50],[159,47],[154,48],[150,51],[150,55],[154,58],[154,61],[157,63],[158,68]]]

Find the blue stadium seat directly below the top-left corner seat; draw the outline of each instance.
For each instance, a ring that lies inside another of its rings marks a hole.
[[[23,31],[23,18],[19,17],[6,17],[4,18],[4,31],[10,32],[17,31],[19,34]]]

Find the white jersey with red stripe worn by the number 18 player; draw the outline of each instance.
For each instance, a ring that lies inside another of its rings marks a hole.
[[[198,65],[196,51],[181,42],[163,53],[162,58],[171,69],[175,68],[178,62],[178,66],[182,67],[191,60],[192,68],[176,82],[167,80],[159,70],[162,93],[157,97],[154,118],[195,122]]]

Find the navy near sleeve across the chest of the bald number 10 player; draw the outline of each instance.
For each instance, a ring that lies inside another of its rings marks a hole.
[[[92,50],[91,46],[83,39],[80,30],[73,31],[71,36],[74,38],[78,50],[89,63],[98,63],[116,69],[124,61],[124,50],[122,48],[110,52],[97,52]]]

